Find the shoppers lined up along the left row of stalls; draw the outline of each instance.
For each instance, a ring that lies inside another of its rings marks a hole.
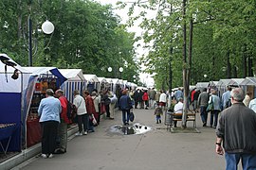
[[[42,99],[39,105],[38,114],[42,127],[42,157],[52,158],[53,154],[63,154],[67,146],[68,124],[76,122],[79,131],[76,136],[87,135],[94,132],[94,127],[100,125],[101,113],[113,120],[115,117],[115,106],[118,98],[110,90],[98,93],[94,90],[91,94],[88,91],[75,90],[73,92],[73,105],[76,108],[76,115],[68,118],[68,100],[64,91],[51,89],[46,90],[46,98]]]

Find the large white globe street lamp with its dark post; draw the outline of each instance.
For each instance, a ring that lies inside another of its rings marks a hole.
[[[30,15],[27,19],[27,25],[28,25],[28,66],[32,66],[32,20],[30,18]],[[54,31],[54,26],[51,22],[46,20],[45,23],[42,25],[42,30],[45,34],[51,34]]]

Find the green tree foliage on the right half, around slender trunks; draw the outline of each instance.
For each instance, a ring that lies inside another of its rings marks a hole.
[[[255,60],[254,1],[188,0],[185,20],[182,20],[181,0],[137,0],[132,5],[122,3],[120,6],[125,7],[130,7],[129,25],[140,21],[139,26],[145,30],[142,37],[144,47],[149,47],[150,52],[141,58],[141,62],[147,66],[146,72],[155,74],[158,89],[167,88],[170,63],[173,87],[182,86],[182,68],[185,66],[190,69],[187,63],[183,63],[182,57],[182,25],[187,24],[189,44],[190,20],[193,23],[191,84],[226,78],[228,75],[223,68],[227,68],[228,62],[231,68],[238,68],[237,76],[242,77],[243,72],[246,72],[242,56]],[[135,8],[140,8],[139,14]],[[149,17],[149,13],[155,13],[155,16]],[[208,79],[204,75],[208,75]]]

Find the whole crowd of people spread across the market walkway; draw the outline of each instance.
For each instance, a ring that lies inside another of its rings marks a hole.
[[[77,108],[77,136],[94,132],[100,124],[101,113],[106,112],[110,120],[115,118],[115,106],[122,111],[123,126],[129,125],[132,109],[155,109],[155,123],[161,123],[161,116],[174,103],[174,112],[183,111],[183,92],[181,89],[172,93],[152,89],[122,90],[117,95],[109,90],[91,94],[74,91],[73,104]],[[241,88],[228,87],[221,96],[212,89],[193,89],[190,93],[189,109],[200,111],[203,127],[216,128],[216,153],[223,155],[227,169],[236,169],[240,159],[244,169],[256,169],[256,99],[250,99]],[[117,104],[118,103],[118,104]],[[66,152],[67,100],[62,90],[46,90],[46,98],[40,103],[38,113],[42,125],[42,157],[52,158],[55,153]],[[210,112],[210,124],[208,114]],[[220,116],[219,116],[220,115]],[[95,121],[93,121],[95,120]],[[176,127],[176,122],[174,122]],[[225,151],[224,151],[225,148]]]

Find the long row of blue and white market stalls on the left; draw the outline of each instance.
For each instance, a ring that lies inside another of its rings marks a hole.
[[[136,89],[137,85],[118,78],[84,75],[82,69],[21,67],[0,54],[0,152],[21,151],[41,141],[37,110],[46,89],[64,90],[69,101],[73,92]],[[17,77],[13,76],[17,74]]]

